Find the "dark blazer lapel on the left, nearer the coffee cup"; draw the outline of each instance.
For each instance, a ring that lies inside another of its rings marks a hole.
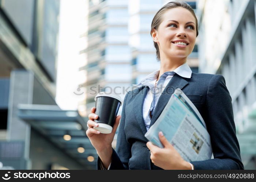
[[[136,96],[134,95],[134,102],[135,103],[132,104],[133,105],[133,112],[135,114],[137,122],[139,123],[140,128],[142,129],[143,133],[146,134],[147,128],[145,126],[144,119],[143,119],[143,103],[144,103],[144,99],[147,95],[147,92],[148,92],[149,88],[145,87],[145,86],[142,86],[138,89],[140,89],[140,90],[135,91]]]

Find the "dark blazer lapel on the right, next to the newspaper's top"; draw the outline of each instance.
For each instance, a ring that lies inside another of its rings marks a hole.
[[[166,104],[168,103],[169,99],[171,98],[172,94],[174,93],[174,91],[177,88],[180,88],[182,90],[182,88],[185,87],[187,84],[188,82],[185,79],[183,79],[181,76],[177,74],[173,76],[173,78],[167,84],[167,86],[165,87],[165,90],[163,90],[162,94],[158,99],[157,105],[155,106],[155,113],[151,118],[149,127],[151,127],[155,123],[158,116],[161,114]]]

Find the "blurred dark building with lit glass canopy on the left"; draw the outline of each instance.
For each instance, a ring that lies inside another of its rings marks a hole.
[[[86,122],[54,99],[59,9],[0,0],[1,169],[95,169]]]

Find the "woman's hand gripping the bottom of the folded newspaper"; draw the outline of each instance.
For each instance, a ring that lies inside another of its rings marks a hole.
[[[158,135],[164,146],[163,149],[153,145],[152,142],[147,142],[147,147],[151,151],[150,159],[154,165],[162,169],[191,169],[190,163],[181,157],[178,151],[163,136],[162,131]]]

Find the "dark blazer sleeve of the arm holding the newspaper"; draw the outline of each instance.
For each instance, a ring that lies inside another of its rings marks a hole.
[[[231,96],[222,75],[212,76],[206,95],[206,124],[214,159],[191,162],[195,169],[244,169]]]

